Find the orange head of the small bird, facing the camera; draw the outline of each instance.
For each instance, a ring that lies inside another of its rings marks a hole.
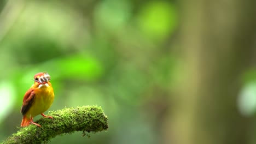
[[[50,75],[44,71],[42,73],[37,73],[36,75],[34,75],[34,84],[40,86],[40,85],[49,85],[51,80]]]

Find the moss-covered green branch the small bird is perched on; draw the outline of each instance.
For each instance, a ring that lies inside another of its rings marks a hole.
[[[21,128],[3,143],[43,143],[64,133],[83,131],[85,135],[85,131],[96,133],[108,129],[108,118],[98,106],[65,108],[51,112],[49,116],[53,119],[40,118],[36,121],[42,127],[31,124]]]

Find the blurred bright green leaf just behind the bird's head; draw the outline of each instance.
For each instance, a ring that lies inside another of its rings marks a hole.
[[[52,79],[79,79],[79,80],[95,80],[103,73],[102,65],[90,56],[73,55],[62,58],[55,58],[45,63],[37,64],[36,67],[27,68],[25,73],[28,77],[40,71],[48,71],[52,75]]]

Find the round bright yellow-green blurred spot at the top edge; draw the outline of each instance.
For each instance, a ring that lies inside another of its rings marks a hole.
[[[138,15],[138,25],[146,37],[164,39],[177,27],[175,5],[165,1],[151,1],[142,7]]]

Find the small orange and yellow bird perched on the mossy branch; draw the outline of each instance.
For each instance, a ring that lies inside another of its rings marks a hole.
[[[33,117],[39,114],[53,119],[53,117],[45,116],[43,113],[49,109],[54,100],[54,90],[51,87],[50,79],[50,75],[46,72],[34,75],[34,84],[28,89],[23,98],[20,110],[23,115],[21,127],[30,124],[41,127],[40,124],[33,122]]]

